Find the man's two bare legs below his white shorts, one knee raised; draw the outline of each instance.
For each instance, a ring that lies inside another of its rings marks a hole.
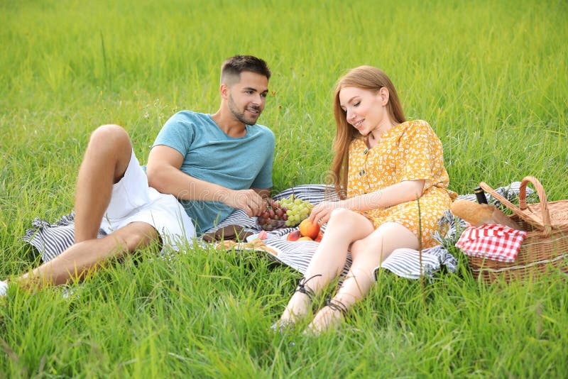
[[[109,205],[112,186],[126,172],[132,145],[128,133],[116,125],[95,130],[84,154],[75,196],[75,244],[48,263],[17,279],[24,285],[60,285],[82,278],[104,260],[122,256],[158,240],[153,226],[136,222],[97,239],[102,216]]]

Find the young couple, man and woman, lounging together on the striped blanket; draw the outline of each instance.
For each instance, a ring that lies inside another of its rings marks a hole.
[[[75,243],[11,281],[59,285],[152,243],[178,248],[234,209],[260,214],[272,187],[275,138],[256,121],[270,77],[266,62],[256,57],[226,60],[219,110],[172,116],[151,148],[146,172],[123,128],[97,128],[77,177]],[[307,326],[316,334],[336,326],[366,295],[373,268],[395,248],[433,246],[432,231],[452,201],[439,138],[425,121],[405,121],[384,72],[362,66],[339,79],[334,115],[332,170],[342,200],[312,210],[310,219],[327,223],[326,233],[276,324],[307,317],[312,297],[337,278],[349,251],[353,263],[342,287]],[[242,160],[245,153],[249,158]],[[107,236],[97,238],[99,229]],[[0,294],[7,287],[0,282]]]

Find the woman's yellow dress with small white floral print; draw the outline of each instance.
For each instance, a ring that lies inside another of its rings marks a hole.
[[[449,177],[444,167],[442,142],[426,121],[400,123],[389,129],[368,148],[363,137],[349,146],[347,197],[378,191],[405,180],[425,180],[420,197],[422,247],[437,245],[432,233],[456,197],[447,189]],[[386,209],[362,212],[375,228],[386,222],[402,224],[419,236],[417,201]]]

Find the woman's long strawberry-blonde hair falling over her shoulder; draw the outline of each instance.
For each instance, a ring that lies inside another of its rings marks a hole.
[[[347,195],[347,172],[349,171],[349,144],[354,138],[361,136],[356,128],[347,123],[346,112],[339,103],[339,92],[345,87],[356,87],[372,92],[386,87],[388,89],[387,110],[391,119],[396,123],[405,121],[403,107],[400,106],[398,94],[391,79],[382,71],[372,66],[359,66],[337,81],[334,90],[333,113],[335,116],[336,132],[333,143],[334,158],[332,172],[334,174],[335,190],[342,199]]]

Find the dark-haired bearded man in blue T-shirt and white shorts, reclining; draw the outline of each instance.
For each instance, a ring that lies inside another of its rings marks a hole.
[[[123,128],[97,128],[77,176],[75,243],[16,280],[59,285],[153,243],[179,248],[195,237],[195,226],[201,233],[234,209],[260,214],[272,187],[275,138],[256,120],[270,77],[257,57],[226,60],[219,110],[172,116],[158,133],[146,173]],[[97,238],[99,229],[107,236]],[[0,295],[7,287],[0,282]]]

